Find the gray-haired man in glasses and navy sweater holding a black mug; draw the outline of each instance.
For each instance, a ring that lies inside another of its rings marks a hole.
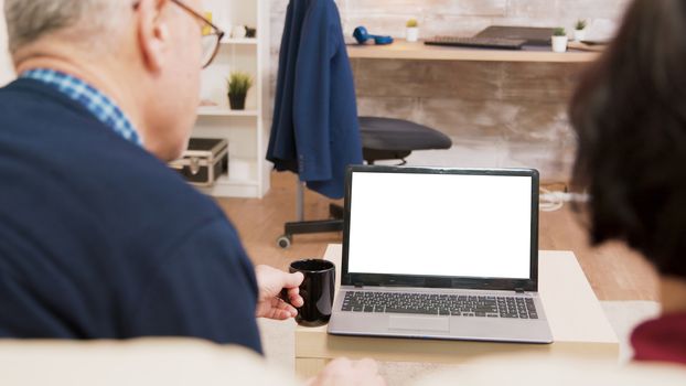
[[[219,31],[200,1],[6,0],[0,336],[196,336],[260,352],[301,274],[254,269],[216,204],[170,171]],[[202,36],[203,29],[214,34]],[[368,363],[329,371],[369,375]]]

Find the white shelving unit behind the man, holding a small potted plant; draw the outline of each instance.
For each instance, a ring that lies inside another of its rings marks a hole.
[[[201,98],[216,106],[197,109],[193,137],[228,141],[228,175],[203,192],[219,197],[261,197],[269,190],[271,164],[265,160],[269,127],[269,0],[206,0],[206,11],[226,35],[212,65],[203,71]],[[236,25],[257,29],[257,37],[233,37]],[[226,78],[234,71],[253,75],[245,110],[232,110]]]

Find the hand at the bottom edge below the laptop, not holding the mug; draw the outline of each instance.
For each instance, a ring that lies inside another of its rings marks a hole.
[[[376,362],[372,360],[351,361],[339,358],[331,362],[308,386],[385,386],[378,375]]]

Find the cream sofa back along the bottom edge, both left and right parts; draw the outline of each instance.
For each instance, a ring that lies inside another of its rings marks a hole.
[[[191,339],[0,341],[2,386],[175,386],[300,384],[254,353]],[[578,357],[483,358],[407,384],[686,385],[686,366],[598,363]]]

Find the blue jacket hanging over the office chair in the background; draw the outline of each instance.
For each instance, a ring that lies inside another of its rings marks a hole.
[[[267,160],[332,199],[362,163],[355,86],[333,0],[291,0],[279,55]]]

